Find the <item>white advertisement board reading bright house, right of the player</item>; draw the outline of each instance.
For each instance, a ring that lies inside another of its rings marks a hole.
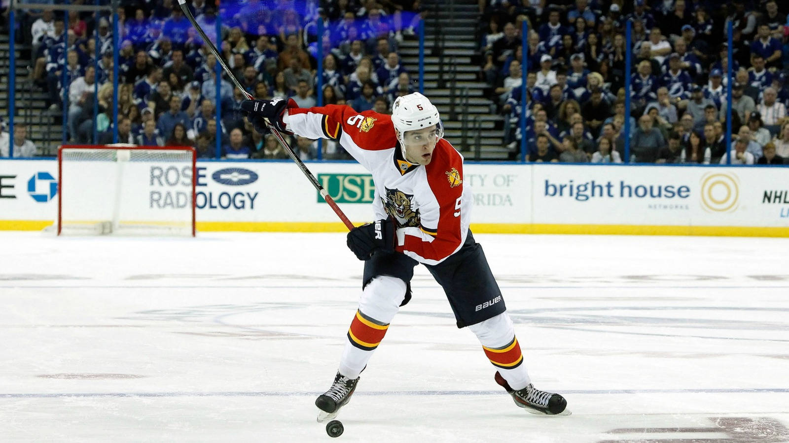
[[[783,168],[533,166],[533,224],[789,227]]]

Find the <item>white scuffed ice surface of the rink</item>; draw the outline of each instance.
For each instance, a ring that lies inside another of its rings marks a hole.
[[[517,408],[417,267],[342,441],[789,441],[789,240],[475,235],[535,385]],[[329,441],[361,290],[342,234],[0,233],[0,441]]]

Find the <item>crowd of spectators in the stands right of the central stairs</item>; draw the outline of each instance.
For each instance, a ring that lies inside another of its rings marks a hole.
[[[525,137],[529,161],[622,162],[629,119],[633,162],[726,163],[727,151],[734,164],[789,162],[789,2],[481,0],[480,10],[481,76],[505,115],[511,158]],[[729,22],[735,75],[727,147]]]

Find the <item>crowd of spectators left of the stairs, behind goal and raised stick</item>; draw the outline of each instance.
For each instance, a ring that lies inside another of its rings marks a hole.
[[[212,158],[219,136],[222,158],[287,157],[272,136],[256,134],[236,112],[244,94],[217,70],[214,55],[174,0],[122,5],[118,10],[119,143],[194,146],[201,158]],[[398,44],[404,36],[414,35],[414,26],[425,15],[420,13],[419,0],[226,1],[219,11],[204,0],[193,0],[189,9],[214,42],[219,20],[217,47],[222,58],[245,91],[257,99],[294,99],[308,107],[316,106],[320,95],[323,104],[387,113],[396,97],[414,91],[414,81],[400,62]],[[324,30],[321,91],[316,77],[319,21]],[[62,113],[65,95],[64,125],[70,142],[92,143],[97,131],[98,143],[112,143],[110,18],[71,12],[67,23],[68,28],[62,15],[45,10],[32,24],[33,80],[48,92],[54,115]],[[317,157],[315,140],[295,138],[291,146],[302,159]],[[337,143],[324,140],[321,146],[323,158],[349,158]]]

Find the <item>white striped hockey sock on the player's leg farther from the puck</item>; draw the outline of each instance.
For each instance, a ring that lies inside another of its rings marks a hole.
[[[507,380],[510,388],[523,389],[531,383],[529,371],[523,363],[521,347],[515,338],[512,320],[507,312],[471,325],[469,329],[477,335],[485,355]]]

